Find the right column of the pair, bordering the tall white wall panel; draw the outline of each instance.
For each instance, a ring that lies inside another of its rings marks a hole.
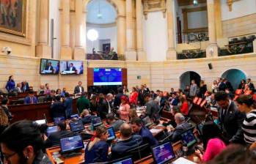
[[[147,60],[147,56],[143,46],[142,0],[136,0],[136,37],[138,60],[145,61]]]

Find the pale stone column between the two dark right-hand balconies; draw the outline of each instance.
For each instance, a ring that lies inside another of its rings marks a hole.
[[[211,58],[218,56],[218,45],[216,40],[216,26],[214,17],[214,0],[207,0],[207,13],[209,45],[208,48],[206,48],[206,56],[208,58]]]

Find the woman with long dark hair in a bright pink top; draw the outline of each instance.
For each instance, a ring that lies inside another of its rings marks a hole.
[[[202,143],[205,153],[201,154],[201,152],[197,150],[196,154],[203,162],[212,160],[226,148],[226,143],[222,137],[222,131],[214,122],[206,122],[202,127]]]

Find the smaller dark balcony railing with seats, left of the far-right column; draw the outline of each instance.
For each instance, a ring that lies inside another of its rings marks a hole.
[[[181,53],[177,53],[177,59],[199,59],[206,58],[206,51],[200,49],[184,50]]]

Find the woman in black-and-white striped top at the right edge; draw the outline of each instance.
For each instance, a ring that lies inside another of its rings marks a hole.
[[[244,141],[250,146],[256,146],[256,106],[252,95],[240,95],[236,100],[238,110],[246,113],[242,124]],[[255,147],[256,148],[256,147]]]

